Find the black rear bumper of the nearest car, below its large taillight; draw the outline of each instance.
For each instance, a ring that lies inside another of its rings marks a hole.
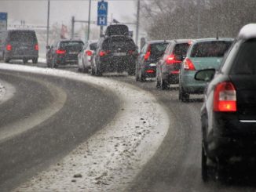
[[[236,113],[214,113],[213,120],[207,139],[210,157],[256,157],[256,123],[244,123]]]

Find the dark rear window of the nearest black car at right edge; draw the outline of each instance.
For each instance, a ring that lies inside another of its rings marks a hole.
[[[234,61],[232,74],[256,74],[255,56],[256,39],[244,42]]]

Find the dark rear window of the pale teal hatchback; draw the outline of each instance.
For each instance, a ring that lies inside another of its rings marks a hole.
[[[191,57],[223,57],[232,42],[199,42],[193,46]]]

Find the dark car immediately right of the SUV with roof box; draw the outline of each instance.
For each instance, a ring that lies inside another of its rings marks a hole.
[[[170,41],[166,40],[146,42],[137,59],[136,81],[144,82],[146,78],[155,78],[156,63],[169,43]]]

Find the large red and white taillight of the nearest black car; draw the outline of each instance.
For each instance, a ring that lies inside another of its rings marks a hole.
[[[236,111],[236,89],[232,82],[221,82],[214,89],[214,111]]]

